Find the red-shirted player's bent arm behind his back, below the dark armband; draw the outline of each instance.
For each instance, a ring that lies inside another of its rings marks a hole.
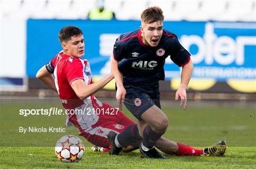
[[[38,70],[36,77],[37,79],[43,81],[46,84],[46,86],[48,86],[50,89],[53,89],[57,92],[54,77],[52,76],[52,73],[46,70],[46,65],[44,65],[41,69]]]

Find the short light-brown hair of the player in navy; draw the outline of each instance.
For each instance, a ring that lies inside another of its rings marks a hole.
[[[155,6],[145,9],[142,12],[140,18],[142,22],[146,24],[151,24],[156,21],[160,21],[160,23],[163,23],[165,17],[163,15],[162,9]]]

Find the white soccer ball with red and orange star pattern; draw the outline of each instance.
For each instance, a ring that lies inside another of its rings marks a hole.
[[[82,140],[73,135],[65,135],[55,145],[55,154],[62,162],[77,162],[82,159],[84,146]]]

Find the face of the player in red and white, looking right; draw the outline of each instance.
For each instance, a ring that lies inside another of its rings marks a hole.
[[[80,36],[72,36],[68,42],[63,42],[64,52],[73,57],[81,58],[84,56],[84,38]]]

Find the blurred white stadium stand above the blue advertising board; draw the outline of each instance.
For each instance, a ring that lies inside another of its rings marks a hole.
[[[86,19],[95,7],[94,0],[1,0],[5,16],[24,18]],[[106,8],[119,20],[139,20],[140,13],[157,5],[165,13],[165,20],[188,21],[255,21],[254,0],[106,0]],[[66,12],[69,11],[69,12]]]

